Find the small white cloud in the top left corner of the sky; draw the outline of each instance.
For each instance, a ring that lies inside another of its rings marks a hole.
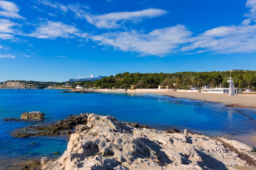
[[[18,14],[19,8],[13,2],[0,0],[0,15],[7,17],[7,18],[18,18],[18,19],[25,19],[24,17]]]

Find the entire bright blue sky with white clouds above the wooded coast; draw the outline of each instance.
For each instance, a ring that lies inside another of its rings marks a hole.
[[[0,0],[0,82],[256,70],[256,0]]]

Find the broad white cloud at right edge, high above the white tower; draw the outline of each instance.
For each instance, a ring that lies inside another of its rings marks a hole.
[[[220,26],[197,37],[182,51],[198,53],[253,53],[256,52],[256,25]]]

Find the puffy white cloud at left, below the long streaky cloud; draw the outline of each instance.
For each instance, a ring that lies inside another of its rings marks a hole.
[[[73,35],[78,33],[78,31],[79,30],[72,25],[48,21],[42,23],[33,33],[28,34],[28,36],[44,39],[74,38]]]

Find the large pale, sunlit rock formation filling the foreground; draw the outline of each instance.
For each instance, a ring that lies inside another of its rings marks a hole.
[[[253,148],[246,146],[242,150],[251,152]],[[67,150],[57,161],[42,158],[41,164],[42,170],[235,170],[232,167],[249,167],[215,139],[189,132],[184,137],[182,133],[132,128],[113,117],[94,114],[88,116],[87,125],[76,126]]]

